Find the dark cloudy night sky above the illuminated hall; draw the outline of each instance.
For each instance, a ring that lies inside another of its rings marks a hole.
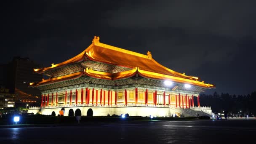
[[[64,2],[65,1],[65,2]],[[229,3],[230,2],[230,3]],[[101,43],[146,54],[216,85],[206,93],[256,91],[256,2],[22,0],[1,3],[1,59],[51,66]]]

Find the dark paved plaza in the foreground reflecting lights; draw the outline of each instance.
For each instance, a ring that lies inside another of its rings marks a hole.
[[[255,143],[256,119],[98,123],[0,128],[0,144],[243,144]],[[254,141],[254,142],[253,142]]]

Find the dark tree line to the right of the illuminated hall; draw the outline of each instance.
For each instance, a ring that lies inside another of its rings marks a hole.
[[[228,93],[216,92],[213,95],[200,95],[201,106],[211,106],[213,112],[227,111],[243,115],[256,115],[256,91],[248,95],[229,95]],[[241,112],[240,112],[241,113]]]

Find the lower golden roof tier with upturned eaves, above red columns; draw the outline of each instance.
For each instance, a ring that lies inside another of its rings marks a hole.
[[[30,83],[29,85],[31,87],[39,87],[39,86],[43,86],[43,85],[59,83],[61,81],[74,80],[79,77],[82,77],[83,75],[87,75],[88,77],[93,77],[96,79],[110,80],[110,81],[122,80],[122,79],[126,79],[129,77],[133,77],[135,75],[139,75],[139,76],[147,78],[147,79],[161,80],[161,81],[169,80],[174,83],[190,84],[190,85],[199,86],[199,87],[203,87],[203,88],[215,88],[214,85],[206,84],[203,81],[200,82],[197,80],[189,80],[189,79],[182,78],[182,77],[175,77],[175,76],[171,76],[171,75],[159,74],[156,72],[149,72],[146,70],[141,70],[139,68],[133,68],[128,71],[118,72],[118,73],[114,73],[114,74],[108,73],[108,72],[95,71],[93,69],[86,68],[82,72],[76,72],[76,73],[64,75],[61,77],[49,78],[48,80],[43,79],[43,81],[41,81],[41,82]]]

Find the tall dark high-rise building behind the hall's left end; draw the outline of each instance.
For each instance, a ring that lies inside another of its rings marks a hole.
[[[42,80],[42,75],[33,72],[34,67],[40,67],[29,58],[14,57],[8,64],[1,64],[0,86],[7,88],[8,93],[15,93],[16,104],[19,107],[37,105],[40,101],[40,91],[37,88],[28,88],[29,82]]]

